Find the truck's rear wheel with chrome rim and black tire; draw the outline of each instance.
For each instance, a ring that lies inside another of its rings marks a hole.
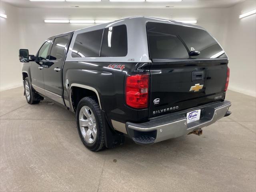
[[[76,111],[78,134],[84,146],[91,151],[104,148],[104,132],[100,106],[93,97],[84,97]]]

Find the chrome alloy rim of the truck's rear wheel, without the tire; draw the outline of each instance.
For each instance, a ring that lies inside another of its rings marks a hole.
[[[79,126],[84,140],[93,143],[97,136],[96,119],[88,106],[82,106],[79,112]]]

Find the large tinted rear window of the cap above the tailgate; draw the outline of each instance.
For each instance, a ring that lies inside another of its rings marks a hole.
[[[227,58],[205,30],[156,22],[148,22],[146,28],[151,59]],[[192,50],[200,54],[189,56]]]

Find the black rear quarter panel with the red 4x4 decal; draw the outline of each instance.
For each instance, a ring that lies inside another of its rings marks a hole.
[[[125,68],[108,67],[110,65],[124,65]],[[126,74],[148,71],[148,63],[125,62],[65,62],[63,68],[63,82],[69,82],[68,90],[64,86],[64,99],[69,101],[70,86],[82,84],[97,90],[102,110],[109,120],[119,122],[138,122],[148,119],[148,109],[135,110],[125,104],[124,85]]]

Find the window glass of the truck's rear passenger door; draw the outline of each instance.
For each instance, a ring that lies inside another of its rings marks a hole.
[[[66,44],[68,43],[68,36],[58,37],[54,39],[49,60],[59,60],[65,54]]]

